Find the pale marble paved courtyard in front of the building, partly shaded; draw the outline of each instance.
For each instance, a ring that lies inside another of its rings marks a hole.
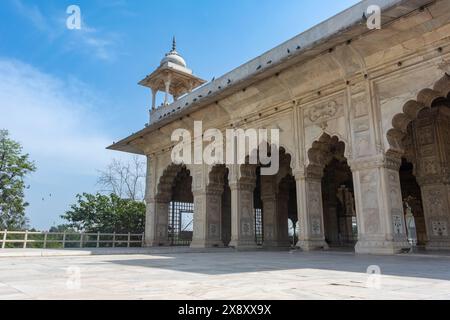
[[[374,265],[380,277],[367,274]],[[450,257],[230,251],[1,257],[0,299],[450,299]]]

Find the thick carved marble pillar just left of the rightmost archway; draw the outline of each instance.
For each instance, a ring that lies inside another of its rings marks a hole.
[[[379,155],[350,163],[355,188],[358,243],[362,254],[409,249],[400,187],[401,159]]]

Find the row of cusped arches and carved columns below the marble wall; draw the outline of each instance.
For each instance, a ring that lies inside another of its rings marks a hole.
[[[428,107],[408,102],[387,133],[389,151],[370,162],[349,161],[347,144],[323,133],[308,150],[303,171],[293,170],[284,148],[274,176],[261,176],[260,166],[250,164],[169,165],[147,201],[147,245],[448,249],[449,106],[442,95]],[[183,221],[181,213],[174,217],[182,211],[171,209],[174,203],[193,213],[190,231],[174,223]]]

